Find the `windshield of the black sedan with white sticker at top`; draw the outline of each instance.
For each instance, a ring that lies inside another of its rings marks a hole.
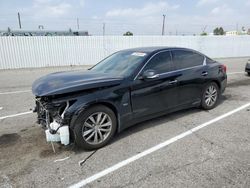
[[[102,60],[91,70],[127,77],[144,61],[146,53],[135,51],[121,51]]]

